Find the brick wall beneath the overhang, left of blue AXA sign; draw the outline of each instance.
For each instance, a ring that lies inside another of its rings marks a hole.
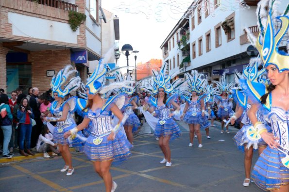
[[[55,70],[55,74],[57,74],[67,64],[70,64],[69,49],[32,51],[30,56],[32,87],[38,87],[41,93],[50,89],[52,77],[47,77],[47,70]]]

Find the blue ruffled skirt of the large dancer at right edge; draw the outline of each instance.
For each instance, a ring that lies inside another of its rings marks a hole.
[[[257,160],[252,178],[265,191],[279,190],[289,184],[289,169],[281,161],[286,155],[277,149],[267,147]]]

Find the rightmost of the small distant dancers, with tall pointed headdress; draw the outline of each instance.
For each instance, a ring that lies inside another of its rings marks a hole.
[[[223,120],[228,120],[230,118],[230,114],[233,113],[232,107],[230,105],[230,101],[233,100],[232,95],[228,95],[230,84],[226,83],[225,73],[221,76],[221,81],[214,81],[216,83],[218,91],[221,93],[221,96],[214,96],[214,101],[218,105],[218,117],[221,121],[221,133],[224,132],[225,122]],[[229,133],[229,125],[226,126],[226,132]]]

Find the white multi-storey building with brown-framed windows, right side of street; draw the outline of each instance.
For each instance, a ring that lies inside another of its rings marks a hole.
[[[170,75],[175,73],[176,78],[182,78],[187,68],[187,71],[197,69],[206,73],[209,80],[219,80],[223,72],[227,80],[233,80],[234,70],[242,71],[249,63],[246,50],[251,44],[244,28],[258,34],[255,14],[258,1],[244,0],[250,9],[228,10],[227,7],[226,11],[224,5],[218,4],[222,2],[219,0],[194,1],[195,9],[191,14],[187,14],[191,9],[187,10],[160,47],[163,61],[169,63]],[[286,7],[285,1],[282,0],[280,10]],[[184,67],[182,61],[186,57],[187,67]]]

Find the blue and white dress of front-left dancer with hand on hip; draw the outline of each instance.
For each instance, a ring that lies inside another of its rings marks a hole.
[[[116,132],[113,141],[107,140],[113,129],[110,107],[118,102],[119,99],[124,100],[124,96],[110,97],[102,109],[97,109],[94,112],[88,110],[85,116],[90,119],[91,126],[89,136],[85,142],[84,152],[91,161],[114,160],[114,162],[118,162],[126,160],[130,156],[132,145],[128,142],[123,132]]]

